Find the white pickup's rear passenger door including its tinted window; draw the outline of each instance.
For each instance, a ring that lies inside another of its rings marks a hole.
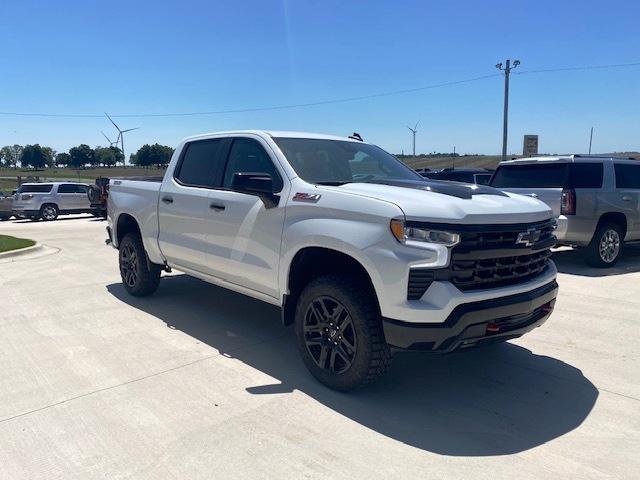
[[[210,274],[207,235],[212,228],[211,189],[220,185],[228,140],[185,144],[173,175],[165,176],[158,201],[158,244],[170,265]]]

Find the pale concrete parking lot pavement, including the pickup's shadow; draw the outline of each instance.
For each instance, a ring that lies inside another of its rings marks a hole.
[[[278,309],[181,274],[128,296],[105,222],[0,223],[0,479],[639,478],[640,247],[555,254],[556,311],[326,389]]]

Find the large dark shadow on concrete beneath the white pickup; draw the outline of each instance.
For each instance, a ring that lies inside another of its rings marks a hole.
[[[277,379],[247,388],[248,394],[299,390],[382,435],[442,455],[508,455],[534,448],[578,427],[598,398],[577,368],[510,343],[448,356],[398,354],[377,384],[338,393],[307,372],[293,329],[281,326],[276,307],[186,275],[163,278],[149,298],[131,297],[119,283],[107,289],[168,327]]]

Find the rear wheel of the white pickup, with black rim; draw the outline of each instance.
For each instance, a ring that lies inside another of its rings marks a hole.
[[[134,297],[151,295],[158,289],[162,268],[148,261],[140,235],[127,233],[119,246],[120,277]]]

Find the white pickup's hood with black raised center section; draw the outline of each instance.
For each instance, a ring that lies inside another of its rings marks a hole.
[[[388,181],[323,188],[394,203],[407,220],[414,221],[498,224],[531,223],[552,217],[551,209],[535,198],[465,183]]]

